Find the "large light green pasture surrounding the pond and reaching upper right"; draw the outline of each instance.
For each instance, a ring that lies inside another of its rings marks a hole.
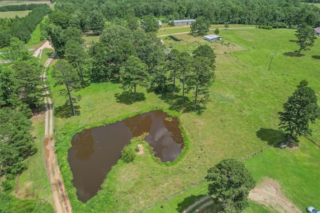
[[[210,88],[211,101],[200,115],[184,108],[180,116],[183,129],[191,142],[183,158],[173,165],[164,165],[155,162],[146,152],[133,163],[120,163],[111,169],[98,195],[86,204],[74,200],[75,189],[72,187],[71,172],[67,165],[67,149],[71,146],[71,137],[84,128],[154,110],[155,106],[180,111],[178,103],[181,91],[177,89],[176,94],[159,95],[138,88],[138,92],[143,92],[140,93],[142,98],[132,102],[133,94],[122,92],[119,84],[91,83],[77,92],[81,95],[81,99],[75,104],[78,115],[70,117],[69,106],[64,105],[67,97],[59,95],[62,85],[54,87],[51,79],[57,132],[56,150],[75,212],[146,210],[183,191],[192,190],[194,185],[201,186],[199,183],[203,186],[198,190],[204,192],[206,184],[201,180],[210,166],[223,158],[245,158],[283,139],[282,133],[277,130],[277,112],[282,110],[283,102],[296,89],[301,79],[305,78],[309,86],[320,91],[318,39],[310,51],[301,52],[304,56],[295,57],[290,56],[298,49],[292,30],[227,29],[220,30],[219,35],[223,37],[223,43],[211,44],[216,45],[217,53],[216,80]],[[183,42],[191,39],[195,38],[189,35],[183,38]],[[183,42],[174,44],[173,48],[183,49]],[[199,40],[193,42],[200,44]],[[196,45],[190,47],[189,51],[195,47]],[[271,69],[267,71],[272,54]],[[191,94],[188,97],[192,100]],[[187,104],[190,103],[187,101]],[[312,125],[312,129],[319,128],[319,122]],[[314,131],[312,137],[319,138],[319,132]],[[150,178],[152,169],[154,179]],[[313,177],[314,181],[318,180],[314,174]],[[311,181],[308,183],[311,184]],[[183,198],[182,196],[181,199]],[[288,198],[292,200],[292,197]],[[176,203],[172,206],[174,210]]]

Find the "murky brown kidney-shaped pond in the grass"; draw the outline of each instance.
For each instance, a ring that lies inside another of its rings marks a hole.
[[[183,138],[177,118],[161,110],[139,114],[105,126],[85,129],[72,137],[68,161],[78,199],[86,202],[99,190],[103,179],[121,156],[132,137],[144,132],[144,138],[161,161],[173,161],[181,153]]]

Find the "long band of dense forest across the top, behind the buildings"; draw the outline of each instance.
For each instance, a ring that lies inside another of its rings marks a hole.
[[[151,14],[165,19],[204,16],[211,24],[320,25],[320,8],[299,0],[59,0],[54,8],[50,15],[54,24],[66,28],[76,22],[82,30],[88,28],[93,11],[107,20]]]

